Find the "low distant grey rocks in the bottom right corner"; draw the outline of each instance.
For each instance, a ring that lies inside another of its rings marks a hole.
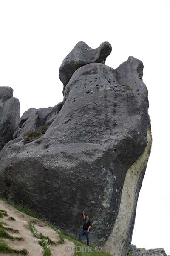
[[[145,248],[137,249],[134,245],[130,246],[129,253],[133,256],[167,256],[162,248],[146,250]]]

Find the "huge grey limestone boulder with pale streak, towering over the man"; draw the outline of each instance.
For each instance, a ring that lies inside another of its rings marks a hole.
[[[107,47],[94,54],[78,45],[60,67],[63,105],[46,133],[26,145],[19,135],[1,151],[0,193],[74,237],[85,210],[92,243],[125,256],[152,143],[143,64],[129,57],[113,69]]]

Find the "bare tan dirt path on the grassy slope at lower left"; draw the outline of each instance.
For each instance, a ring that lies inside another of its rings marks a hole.
[[[5,223],[5,227],[13,228],[14,230],[18,230],[18,232],[7,231],[11,236],[22,237],[23,239],[18,240],[10,240],[3,239],[6,241],[8,246],[14,249],[27,249],[27,256],[43,256],[44,249],[39,245],[40,239],[33,236],[29,228],[29,221],[35,221],[35,227],[38,230],[38,233],[42,233],[44,236],[48,236],[51,241],[54,242],[51,245],[51,255],[52,256],[74,256],[74,244],[67,239],[65,239],[64,244],[58,244],[60,238],[59,235],[51,229],[51,227],[47,226],[44,222],[38,221],[22,212],[17,211],[10,205],[6,204],[2,200],[0,200],[0,210],[5,210],[8,216],[3,216],[0,218],[0,221]],[[9,219],[9,217],[13,217],[15,221]],[[70,251],[67,251],[67,248],[72,248]],[[23,256],[21,253],[0,253],[0,256]]]

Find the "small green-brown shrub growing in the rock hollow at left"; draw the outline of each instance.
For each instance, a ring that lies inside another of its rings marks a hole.
[[[45,134],[47,129],[47,125],[41,125],[39,130],[29,130],[26,134],[24,134],[24,144],[39,139],[42,135]]]

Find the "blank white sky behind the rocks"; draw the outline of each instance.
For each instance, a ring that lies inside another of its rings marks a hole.
[[[0,86],[28,108],[62,101],[59,66],[78,41],[112,45],[106,64],[144,63],[153,145],[133,244],[170,254],[170,0],[0,0]]]

